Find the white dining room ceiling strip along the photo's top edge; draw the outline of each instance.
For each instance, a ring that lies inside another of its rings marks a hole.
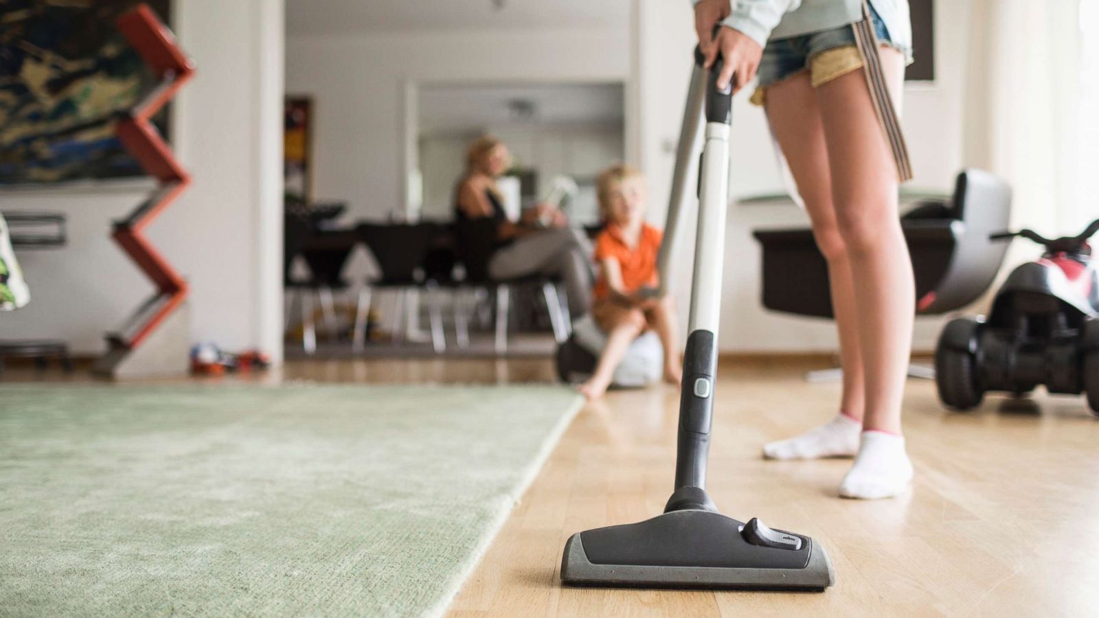
[[[677,1],[677,0],[669,0]],[[495,4],[502,2],[502,9]],[[593,27],[630,19],[630,0],[286,0],[290,36],[418,30]]]

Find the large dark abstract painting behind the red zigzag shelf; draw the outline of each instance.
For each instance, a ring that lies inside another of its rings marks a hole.
[[[157,86],[115,26],[141,3],[171,26],[170,0],[0,0],[0,187],[145,176],[114,135]]]

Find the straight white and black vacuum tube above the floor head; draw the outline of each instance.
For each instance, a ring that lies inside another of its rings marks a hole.
[[[696,71],[700,70],[696,51]],[[699,212],[691,282],[690,320],[679,396],[676,492],[666,510],[713,509],[706,495],[706,468],[713,420],[718,365],[725,211],[729,203],[729,133],[732,89],[718,89],[722,60],[710,68],[704,89],[706,142],[699,165]],[[677,168],[681,162],[677,162]]]

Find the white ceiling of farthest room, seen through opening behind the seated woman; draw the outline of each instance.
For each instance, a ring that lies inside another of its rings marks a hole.
[[[479,131],[524,121],[621,122],[622,97],[621,84],[429,86],[420,90],[420,131]],[[514,114],[517,100],[533,106],[533,118]]]

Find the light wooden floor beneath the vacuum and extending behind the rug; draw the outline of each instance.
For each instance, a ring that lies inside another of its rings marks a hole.
[[[813,537],[832,556],[823,594],[563,588],[574,532],[660,512],[671,489],[676,393],[610,394],[587,406],[452,605],[449,616],[1097,616],[1099,420],[1081,398],[1032,407],[990,398],[948,413],[910,380],[913,489],[844,500],[850,462],[765,462],[763,442],[828,419],[837,385],[811,364],[724,363],[717,384],[710,492],[726,515]],[[819,364],[815,366],[820,366]],[[548,361],[293,362],[262,382],[508,383],[552,379]],[[4,382],[34,379],[12,369]],[[67,379],[82,380],[81,375]],[[517,412],[521,422],[521,412]]]

